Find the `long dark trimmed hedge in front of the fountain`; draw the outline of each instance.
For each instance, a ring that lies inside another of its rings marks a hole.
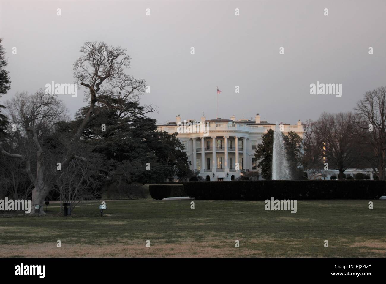
[[[209,200],[378,199],[384,180],[243,180],[184,182],[187,196]]]

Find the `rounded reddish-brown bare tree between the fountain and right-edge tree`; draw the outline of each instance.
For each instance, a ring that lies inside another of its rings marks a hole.
[[[358,160],[359,143],[354,115],[351,112],[324,112],[314,126],[315,136],[323,141],[322,155],[326,158],[328,168],[339,170],[338,179],[343,179],[344,171]]]

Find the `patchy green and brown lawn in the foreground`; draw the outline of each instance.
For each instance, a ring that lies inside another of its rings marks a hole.
[[[297,213],[264,201],[106,201],[61,216],[0,214],[2,257],[385,257],[386,200],[298,201]],[[57,247],[61,240],[61,247]],[[151,247],[146,247],[150,240]],[[240,247],[235,248],[235,240]],[[329,247],[324,247],[328,240]]]

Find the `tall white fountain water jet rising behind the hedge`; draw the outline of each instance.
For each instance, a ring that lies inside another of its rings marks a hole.
[[[273,138],[272,179],[291,180],[291,170],[289,168],[286,149],[284,148],[283,134],[277,123]]]

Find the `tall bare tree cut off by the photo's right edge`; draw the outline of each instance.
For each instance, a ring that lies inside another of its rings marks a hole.
[[[379,179],[385,179],[386,157],[386,87],[366,92],[357,103],[357,134],[363,139],[363,145],[369,150],[363,159],[371,165],[373,173]]]

